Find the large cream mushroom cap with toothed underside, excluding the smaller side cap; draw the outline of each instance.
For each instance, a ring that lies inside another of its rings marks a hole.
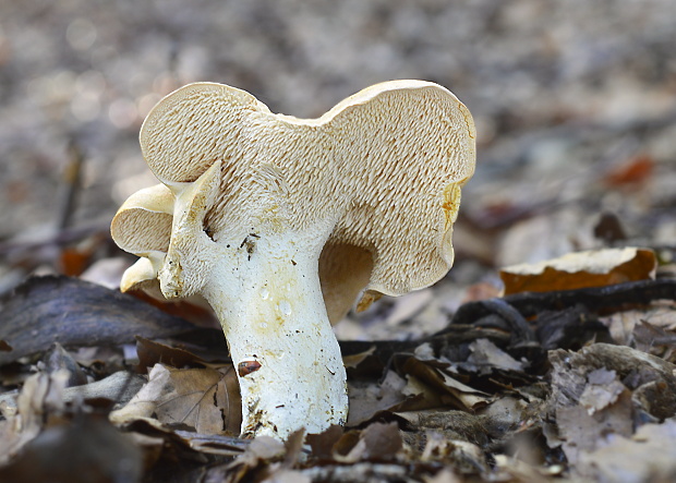
[[[377,84],[318,119],[275,114],[249,93],[197,83],[150,111],[141,145],[174,192],[220,162],[204,218],[216,241],[328,226],[319,271],[335,319],[364,288],[399,295],[448,271],[474,137],[468,109],[430,82]]]

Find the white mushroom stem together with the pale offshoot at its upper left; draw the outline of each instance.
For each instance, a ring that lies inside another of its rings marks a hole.
[[[215,164],[195,182],[172,186],[174,234],[159,270],[162,293],[198,291],[216,312],[238,370],[243,435],[286,439],[301,427],[321,433],[343,424],[347,376],[318,274],[335,221],[301,232],[268,216],[251,231],[214,241],[203,220],[219,173]]]

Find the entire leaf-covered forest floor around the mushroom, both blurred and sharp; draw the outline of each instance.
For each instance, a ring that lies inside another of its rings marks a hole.
[[[676,479],[674,19],[669,0],[0,3],[0,479]],[[141,123],[195,81],[317,117],[391,79],[474,117],[455,266],[335,327],[345,428],[240,439],[213,317],[117,291],[134,257],[110,220],[157,183]],[[582,263],[505,294],[506,267],[587,250],[606,279]]]

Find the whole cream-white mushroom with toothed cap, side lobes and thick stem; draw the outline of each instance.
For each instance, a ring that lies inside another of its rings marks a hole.
[[[468,109],[430,82],[377,84],[318,119],[227,85],[179,88],[141,129],[161,184],[112,221],[142,257],[122,289],[208,301],[238,369],[243,435],[342,424],[331,323],[360,294],[367,306],[448,271],[474,137]]]

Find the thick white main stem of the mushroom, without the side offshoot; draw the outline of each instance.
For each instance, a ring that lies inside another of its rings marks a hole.
[[[322,299],[318,253],[301,251],[298,233],[259,237],[225,250],[214,243],[222,256],[203,291],[238,369],[242,434],[285,439],[300,425],[319,433],[345,424],[347,376]]]

